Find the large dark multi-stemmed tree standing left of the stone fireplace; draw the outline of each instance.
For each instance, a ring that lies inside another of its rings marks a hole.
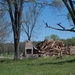
[[[14,59],[19,59],[19,40],[24,0],[1,0],[0,10],[8,11],[14,35]]]

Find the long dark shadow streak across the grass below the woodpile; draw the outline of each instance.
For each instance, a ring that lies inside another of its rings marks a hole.
[[[48,64],[57,64],[57,65],[62,65],[64,63],[73,63],[75,62],[75,59],[72,59],[72,60],[66,60],[66,61],[59,61],[59,62],[43,62],[43,63],[38,63],[38,64],[27,64],[27,65],[39,65],[39,66],[42,66],[42,65],[48,65]]]

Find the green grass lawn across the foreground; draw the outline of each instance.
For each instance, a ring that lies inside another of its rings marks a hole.
[[[75,75],[75,56],[18,61],[0,59],[0,75]]]

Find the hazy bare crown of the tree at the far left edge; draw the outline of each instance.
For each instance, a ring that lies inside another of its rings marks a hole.
[[[9,23],[5,19],[0,20],[0,44],[5,42],[8,33],[10,33]]]

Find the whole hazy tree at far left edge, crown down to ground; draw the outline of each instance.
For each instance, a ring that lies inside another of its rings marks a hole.
[[[4,54],[4,43],[10,33],[9,23],[5,19],[0,19],[0,53]]]

